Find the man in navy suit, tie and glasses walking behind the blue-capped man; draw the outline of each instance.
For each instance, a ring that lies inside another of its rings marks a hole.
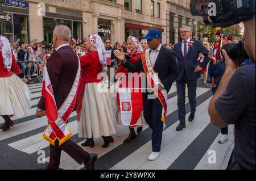
[[[177,106],[179,111],[180,124],[176,131],[181,131],[186,127],[185,124],[185,85],[188,86],[188,98],[191,107],[189,121],[195,119],[196,112],[196,87],[197,79],[201,77],[200,71],[207,67],[209,62],[209,51],[203,46],[201,41],[191,39],[191,28],[184,26],[180,28],[182,41],[174,45],[177,63],[179,65],[179,77],[176,79],[177,85]],[[203,53],[204,61],[198,65],[197,59],[199,54]]]

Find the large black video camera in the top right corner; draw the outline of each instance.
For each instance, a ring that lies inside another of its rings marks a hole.
[[[191,0],[193,16],[204,16],[204,23],[228,27],[252,19],[255,0]]]

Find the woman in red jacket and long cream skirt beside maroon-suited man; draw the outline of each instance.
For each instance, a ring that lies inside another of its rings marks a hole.
[[[81,62],[81,83],[77,96],[77,115],[79,137],[87,138],[82,146],[94,147],[93,138],[102,137],[107,148],[110,142],[114,142],[111,134],[117,133],[117,120],[115,110],[107,92],[98,90],[97,87],[104,85],[101,76],[98,74],[106,73],[106,49],[101,37],[89,35],[86,43],[88,53],[80,57]]]

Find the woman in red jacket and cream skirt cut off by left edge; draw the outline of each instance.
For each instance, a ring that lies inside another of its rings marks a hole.
[[[27,79],[11,53],[9,40],[0,36],[0,115],[5,119],[1,129],[6,131],[13,127],[11,117],[21,117],[30,110],[31,93],[26,85]],[[22,78],[23,82],[11,71]]]

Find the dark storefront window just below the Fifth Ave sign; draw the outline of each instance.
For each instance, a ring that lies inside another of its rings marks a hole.
[[[13,15],[14,41],[20,39],[19,45],[28,43],[28,16]]]

